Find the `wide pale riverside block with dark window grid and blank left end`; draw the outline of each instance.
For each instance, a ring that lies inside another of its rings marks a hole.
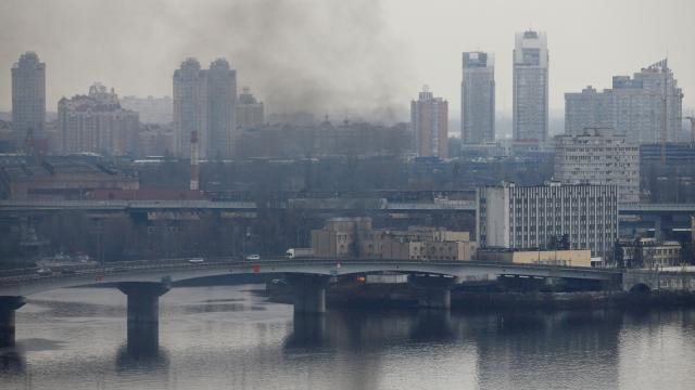
[[[566,236],[570,249],[610,258],[618,238],[618,186],[480,187],[476,232],[481,248],[544,249]]]

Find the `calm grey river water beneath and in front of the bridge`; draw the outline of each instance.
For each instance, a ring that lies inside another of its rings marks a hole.
[[[298,321],[262,286],[175,288],[159,353],[125,348],[125,296],[62,289],[17,313],[1,389],[695,389],[695,311]]]

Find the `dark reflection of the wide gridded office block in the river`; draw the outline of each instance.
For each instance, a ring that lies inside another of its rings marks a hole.
[[[482,388],[618,388],[616,312],[505,313],[472,324]],[[495,329],[495,332],[491,332]],[[585,376],[578,375],[584,373]]]

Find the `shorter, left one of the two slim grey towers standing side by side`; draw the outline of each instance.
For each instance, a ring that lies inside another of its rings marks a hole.
[[[495,67],[492,55],[467,52],[460,83],[460,139],[464,144],[495,140]]]

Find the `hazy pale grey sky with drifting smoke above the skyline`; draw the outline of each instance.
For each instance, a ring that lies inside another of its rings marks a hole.
[[[694,0],[2,0],[0,110],[10,67],[47,63],[47,108],[93,81],[121,95],[170,95],[187,56],[225,56],[268,110],[405,119],[422,84],[459,115],[460,53],[495,55],[497,110],[511,108],[514,34],[547,34],[551,109],[563,94],[661,60],[695,105]]]

